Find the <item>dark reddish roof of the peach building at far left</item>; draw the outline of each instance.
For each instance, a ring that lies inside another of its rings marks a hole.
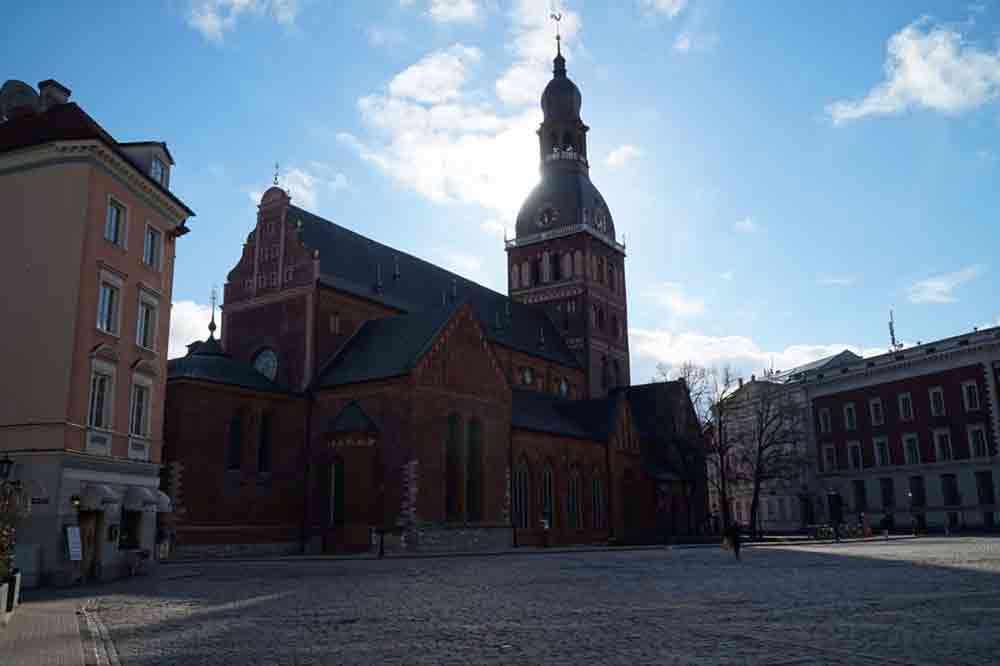
[[[119,144],[114,137],[97,124],[96,120],[74,102],[56,104],[42,113],[18,116],[0,123],[0,153],[52,141],[83,141],[86,139],[97,139],[104,142],[115,154],[134,166],[143,178],[156,189],[183,208],[188,215],[194,215],[194,211],[184,205],[183,201],[174,196],[161,183],[153,180],[145,169],[133,162],[121,149],[122,144]],[[165,145],[164,148],[166,148]]]

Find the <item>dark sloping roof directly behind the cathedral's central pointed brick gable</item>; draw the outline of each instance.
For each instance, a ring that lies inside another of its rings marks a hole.
[[[320,372],[313,388],[409,374],[458,307],[439,305],[366,321]]]

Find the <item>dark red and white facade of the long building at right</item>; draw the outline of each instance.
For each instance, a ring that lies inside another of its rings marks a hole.
[[[993,529],[998,368],[989,328],[814,373],[820,492],[875,527]]]

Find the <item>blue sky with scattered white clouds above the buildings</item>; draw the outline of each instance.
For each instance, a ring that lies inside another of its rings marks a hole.
[[[4,78],[163,140],[197,213],[170,354],[275,164],[293,202],[506,290],[538,179],[553,9],[627,246],[632,381],[787,370],[1000,324],[1000,4],[717,0],[15,3]]]

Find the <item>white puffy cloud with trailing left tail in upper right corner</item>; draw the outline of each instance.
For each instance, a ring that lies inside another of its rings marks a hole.
[[[920,19],[889,38],[885,80],[863,99],[827,106],[834,124],[911,108],[959,113],[1000,97],[1000,52]]]

